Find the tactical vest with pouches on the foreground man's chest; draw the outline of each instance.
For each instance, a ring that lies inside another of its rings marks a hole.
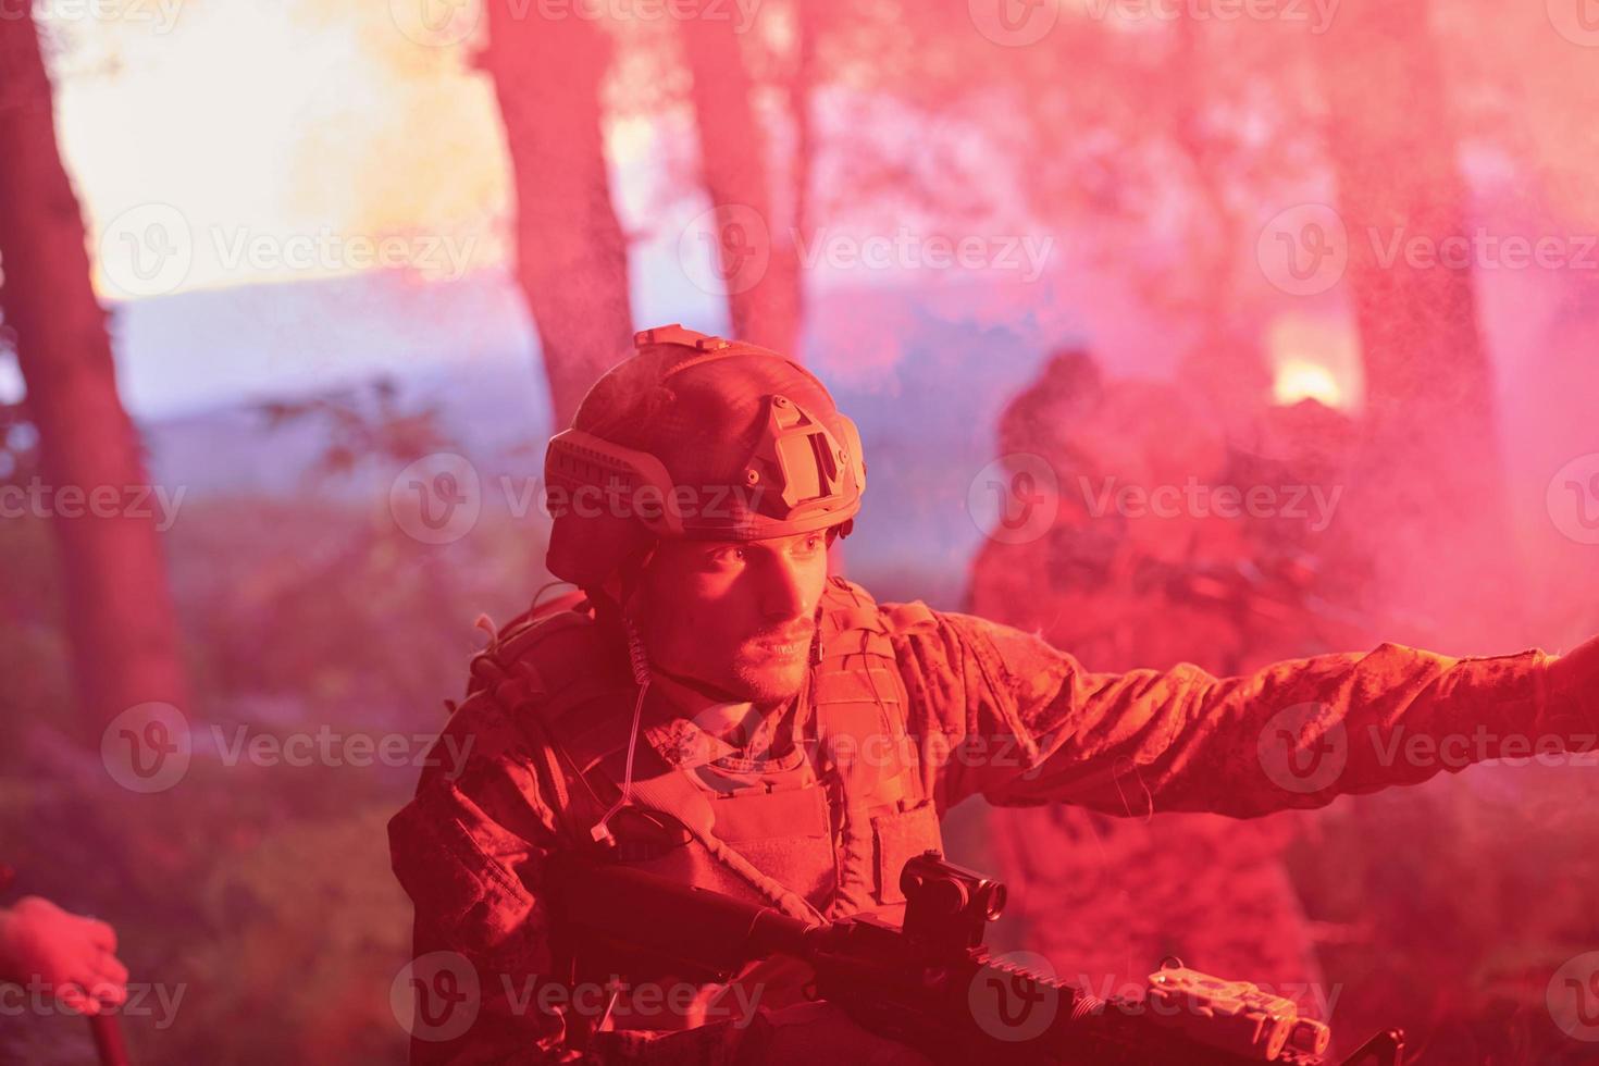
[[[712,791],[640,738],[633,799],[609,821],[609,850],[590,831],[620,796],[638,687],[627,649],[604,639],[587,604],[507,625],[473,658],[469,698],[486,692],[515,713],[574,847],[796,917],[870,911],[897,922],[900,869],[942,837],[889,633],[935,625],[934,615],[921,603],[884,612],[831,577],[819,623],[795,758],[761,785]],[[646,722],[672,713],[654,695]]]

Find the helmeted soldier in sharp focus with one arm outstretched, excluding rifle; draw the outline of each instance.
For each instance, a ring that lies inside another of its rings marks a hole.
[[[545,457],[547,566],[585,599],[472,660],[390,823],[416,906],[414,1063],[910,1058],[800,1002],[800,967],[678,996],[625,949],[574,943],[542,890],[555,852],[796,917],[895,921],[900,868],[969,796],[1255,817],[1453,769],[1393,758],[1401,734],[1485,735],[1484,759],[1514,737],[1575,748],[1599,721],[1599,641],[1108,674],[999,623],[878,604],[827,572],[867,465],[825,387],[678,326],[636,345]]]

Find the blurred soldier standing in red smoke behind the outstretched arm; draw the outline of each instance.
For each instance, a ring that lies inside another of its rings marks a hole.
[[[1177,385],[1105,382],[1089,355],[1060,352],[999,425],[1012,468],[1027,455],[1054,468],[1055,519],[1033,540],[990,539],[966,609],[1108,671],[1188,662],[1228,676],[1358,647],[1367,639],[1358,615],[1329,599],[1334,587],[1342,601],[1359,585],[1359,567],[1324,524],[1351,428],[1314,401],[1271,408],[1244,451]],[[1178,491],[1162,499],[1180,507],[1153,502],[1162,486]],[[1217,486],[1265,486],[1273,502],[1234,515],[1201,492]],[[1116,986],[1140,984],[1148,959],[1175,954],[1279,989],[1321,988],[1282,865],[1303,815],[1151,813],[1137,788],[1126,813],[985,812],[990,858],[1019,919],[1012,937],[1068,978]],[[1326,1012],[1314,999],[1302,1007]]]

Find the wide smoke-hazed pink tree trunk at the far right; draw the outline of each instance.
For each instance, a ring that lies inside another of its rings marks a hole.
[[[1382,532],[1393,603],[1430,615],[1445,639],[1490,639],[1514,607],[1484,595],[1484,574],[1498,572],[1497,587],[1513,575],[1471,262],[1406,253],[1465,246],[1466,189],[1430,8],[1348,0],[1311,45],[1367,384],[1366,455],[1350,502],[1351,518]]]

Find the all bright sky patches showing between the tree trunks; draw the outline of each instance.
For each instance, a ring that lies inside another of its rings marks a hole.
[[[102,302],[138,307],[374,270],[416,284],[477,278],[500,289],[502,304],[515,302],[504,292],[508,163],[491,86],[470,66],[483,32],[473,0],[37,0],[35,13],[51,43],[58,133]],[[907,128],[902,115],[881,112],[881,101],[873,105],[867,121]],[[710,278],[708,245],[686,237],[708,205],[692,189],[667,189],[676,176],[662,165],[692,142],[692,123],[681,113],[624,117],[606,133],[617,211],[624,229],[640,235],[630,248],[635,320],[720,328],[724,307],[715,286],[697,280]],[[852,225],[876,233],[884,248],[895,227],[939,225],[892,208],[886,214]],[[1046,246],[1051,238],[1035,235],[1036,246],[1015,253],[1019,272],[1046,261],[1068,272],[1078,265],[1067,237]],[[921,284],[956,273],[915,264],[859,268],[847,256],[862,251],[859,243],[801,249],[811,256],[807,284]],[[230,331],[254,328],[222,321],[233,313],[225,304],[211,307],[217,313],[197,316],[193,331],[225,342]],[[270,305],[251,297],[249,307]],[[526,326],[516,320],[520,332],[507,334],[516,350],[536,347]],[[232,348],[208,361],[165,358],[174,350],[169,339],[161,352],[130,352],[171,329],[134,315],[118,334],[118,360],[136,361],[125,368],[126,400],[136,412],[154,412],[246,385],[257,390],[289,368],[301,377],[360,374],[405,358],[344,340],[361,328],[358,316],[329,324],[337,358],[318,352],[296,361],[285,352],[277,364],[224,366],[238,358]],[[285,337],[296,329],[304,324],[272,323]],[[1329,334],[1316,320],[1281,324],[1274,347],[1310,355],[1282,360],[1278,398],[1348,401],[1358,392],[1350,385],[1358,355],[1346,334]],[[11,379],[0,379],[0,395],[19,395],[14,368],[5,372]]]

